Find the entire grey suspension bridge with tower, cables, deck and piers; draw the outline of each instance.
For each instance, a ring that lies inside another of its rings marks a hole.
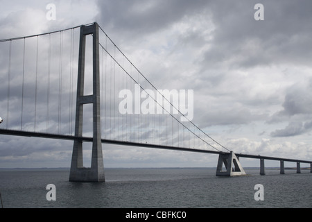
[[[70,181],[105,181],[102,144],[217,154],[216,176],[245,175],[240,157],[259,159],[261,175],[264,160],[279,161],[280,173],[284,162],[296,162],[297,173],[300,163],[308,163],[312,173],[309,160],[234,153],[221,145],[97,23],[0,40],[0,50],[0,80],[7,83],[0,89],[0,134],[73,141]],[[139,89],[150,112],[121,113],[116,96],[122,89]],[[83,164],[83,142],[92,142],[91,167]]]

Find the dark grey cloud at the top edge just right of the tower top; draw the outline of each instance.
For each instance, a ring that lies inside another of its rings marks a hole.
[[[101,21],[105,28],[144,38],[148,33],[168,28],[184,16],[198,13],[198,10],[205,9],[208,3],[209,1],[203,0],[98,1],[101,13],[97,20]]]

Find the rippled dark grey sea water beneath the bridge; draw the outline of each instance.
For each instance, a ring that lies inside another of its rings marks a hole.
[[[4,208],[312,207],[312,173],[245,169],[248,176],[216,177],[210,168],[105,169],[106,182],[69,182],[69,169],[0,169]],[[55,200],[46,186],[55,185]],[[263,185],[256,200],[255,185]]]

